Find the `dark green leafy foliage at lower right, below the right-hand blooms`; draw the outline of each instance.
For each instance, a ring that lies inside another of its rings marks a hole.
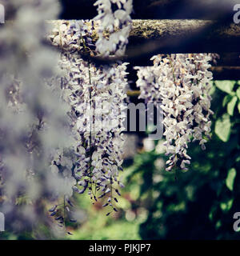
[[[230,86],[228,93],[231,94],[239,88],[238,82],[233,81],[226,86]],[[215,132],[206,151],[197,145],[190,146],[192,164],[188,172],[166,173],[164,166],[159,166],[159,159],[165,159],[164,154],[158,154],[162,142],[158,142],[154,150],[135,156],[128,178],[129,182],[135,177],[142,180],[138,182],[141,186],[138,202],[145,202],[148,212],[146,222],[140,225],[142,238],[240,238],[233,230],[233,216],[240,205],[239,114],[235,108],[230,116],[227,107],[219,104],[226,97],[226,90],[222,89],[223,83],[219,90],[219,83],[214,82]]]

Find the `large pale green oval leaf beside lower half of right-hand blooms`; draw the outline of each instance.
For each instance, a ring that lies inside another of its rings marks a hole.
[[[230,130],[230,116],[229,114],[223,114],[222,118],[218,118],[215,124],[215,134],[218,135],[222,142],[227,142],[230,138]]]

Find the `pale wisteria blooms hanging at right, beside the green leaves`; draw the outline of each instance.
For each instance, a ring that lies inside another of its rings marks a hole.
[[[190,156],[188,142],[199,141],[205,150],[206,138],[210,138],[210,80],[211,54],[156,55],[154,66],[136,67],[139,98],[146,102],[161,103],[165,127],[166,170],[174,166],[187,170]]]

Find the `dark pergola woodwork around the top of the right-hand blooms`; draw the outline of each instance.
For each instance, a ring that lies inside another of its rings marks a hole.
[[[51,21],[58,34],[67,20]],[[98,38],[98,23],[94,24],[93,40]],[[51,42],[52,43],[52,42]],[[56,47],[56,45],[54,45]],[[211,71],[215,80],[240,80],[240,26],[230,23],[219,25],[209,20],[134,20],[130,32],[126,57],[129,62],[130,80],[136,81],[134,66],[151,66],[153,54],[172,53],[218,53],[220,59],[213,63]],[[61,49],[61,45],[57,46]],[[85,56],[88,58],[88,56]],[[94,59],[107,62],[105,59]],[[130,97],[138,96],[134,83],[128,92]]]

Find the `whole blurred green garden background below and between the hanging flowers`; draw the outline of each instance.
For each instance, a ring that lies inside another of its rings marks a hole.
[[[190,144],[190,170],[167,173],[164,141],[144,138],[124,163],[118,213],[107,217],[101,202],[93,205],[87,194],[78,196],[74,203],[82,222],[70,224],[73,235],[65,239],[240,238],[233,229],[234,213],[240,212],[239,85],[213,82],[212,139],[205,151]],[[39,230],[53,238],[46,227]],[[36,233],[4,237],[31,239]]]

